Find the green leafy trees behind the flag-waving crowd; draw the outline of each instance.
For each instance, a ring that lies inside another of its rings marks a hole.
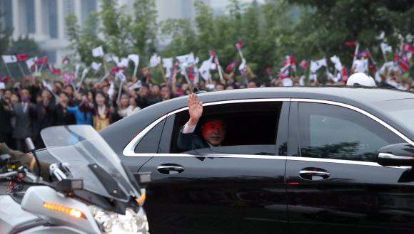
[[[414,4],[408,0],[269,0],[262,5],[230,0],[228,14],[222,16],[214,16],[210,6],[196,1],[194,21],[168,19],[159,25],[154,0],[135,0],[133,16],[125,14],[125,6],[119,7],[116,0],[101,0],[101,3],[102,11],[92,14],[85,28],[77,26],[74,16],[66,18],[71,48],[87,65],[93,60],[102,61],[93,58],[91,50],[103,46],[106,53],[120,57],[137,53],[140,67],[146,66],[149,57],[160,49],[159,39],[168,42],[158,51],[163,58],[193,52],[203,61],[208,59],[208,50],[215,50],[222,68],[226,68],[235,59],[240,64],[234,43],[242,40],[248,66],[259,79],[266,81],[266,68],[276,75],[292,51],[298,63],[302,59],[338,55],[343,65],[350,68],[353,60],[350,55],[355,47],[346,47],[345,41],[359,41],[360,50],[368,48],[379,64],[383,63],[381,42],[398,49],[401,41],[414,41]],[[388,53],[388,60],[392,59]],[[328,64],[333,73],[333,65]],[[408,75],[414,74],[414,66],[409,69]],[[151,72],[155,80],[162,80],[158,69]],[[298,68],[297,75],[303,73]],[[236,76],[241,80],[238,71]],[[213,78],[218,78],[217,72],[213,72]],[[326,78],[324,68],[318,72],[319,78]]]

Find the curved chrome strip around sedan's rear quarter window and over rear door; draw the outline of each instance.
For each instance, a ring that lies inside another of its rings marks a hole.
[[[239,102],[289,102],[291,101],[291,98],[257,98],[257,99],[240,99],[240,100],[227,100],[227,101],[219,101],[219,102],[206,102],[203,103],[203,106],[210,106],[210,105],[221,105],[221,104],[230,104],[230,103],[239,103]],[[124,156],[153,156],[156,153],[153,154],[136,154],[135,153],[135,147],[138,145],[138,143],[141,141],[141,139],[149,132],[153,127],[156,126],[159,122],[161,122],[163,119],[165,119],[168,116],[174,115],[178,112],[181,112],[183,110],[188,110],[188,107],[183,107],[178,110],[174,110],[173,112],[169,112],[166,115],[163,115],[162,117],[159,117],[156,119],[156,121],[149,124],[147,127],[145,127],[141,132],[139,132],[133,139],[126,145],[125,148],[123,148],[122,154]]]

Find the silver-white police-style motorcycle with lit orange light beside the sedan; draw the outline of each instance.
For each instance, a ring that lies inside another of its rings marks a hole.
[[[0,195],[0,233],[148,233],[140,185],[151,174],[131,174],[89,125],[49,127],[41,137],[60,162],[49,168],[53,182],[0,156],[0,182],[29,185]]]

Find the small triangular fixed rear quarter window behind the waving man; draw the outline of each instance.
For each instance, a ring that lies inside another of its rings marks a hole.
[[[161,139],[161,133],[163,132],[164,123],[166,120],[159,122],[153,127],[138,143],[134,152],[136,154],[149,154],[156,153],[158,151],[158,144]]]

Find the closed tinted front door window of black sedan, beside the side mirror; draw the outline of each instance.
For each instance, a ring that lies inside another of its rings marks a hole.
[[[375,120],[334,105],[299,103],[301,156],[375,161],[376,153],[404,140]]]

